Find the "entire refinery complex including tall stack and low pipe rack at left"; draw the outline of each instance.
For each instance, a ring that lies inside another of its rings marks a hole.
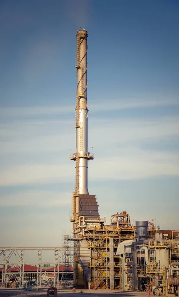
[[[149,288],[156,296],[179,296],[179,231],[160,230],[147,220],[132,225],[123,209],[111,215],[108,225],[99,215],[96,196],[88,192],[88,161],[94,155],[88,152],[87,37],[85,29],[77,31],[76,151],[70,155],[76,167],[72,235],[63,236],[62,247],[0,247],[1,287],[6,288],[13,279],[21,285],[25,282],[26,249],[37,251],[34,274],[38,286],[43,286],[48,281],[48,269],[43,265],[42,253],[50,249],[54,253],[50,268],[54,285],[68,288],[72,281],[80,289]],[[15,252],[19,259],[12,262]]]

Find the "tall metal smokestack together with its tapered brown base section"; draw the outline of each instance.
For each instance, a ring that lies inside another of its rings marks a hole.
[[[76,152],[70,156],[76,161],[75,191],[72,195],[72,214],[76,221],[80,215],[99,217],[95,195],[88,193],[88,160],[94,156],[88,152],[88,107],[87,107],[87,37],[85,29],[76,34]],[[86,206],[88,205],[88,206]]]

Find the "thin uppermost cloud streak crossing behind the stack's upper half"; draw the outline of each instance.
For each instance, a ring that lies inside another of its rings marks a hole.
[[[122,109],[151,108],[162,106],[179,106],[178,96],[173,98],[113,98],[113,101],[99,101],[90,104],[90,112],[113,111]],[[75,104],[57,105],[57,106],[29,106],[29,107],[1,107],[0,116],[6,117],[36,117],[56,114],[74,113]]]

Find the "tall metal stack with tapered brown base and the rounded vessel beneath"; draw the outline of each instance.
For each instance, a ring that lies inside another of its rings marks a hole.
[[[91,282],[90,249],[83,237],[86,228],[101,226],[95,195],[88,192],[88,161],[94,159],[88,152],[88,107],[87,107],[87,37],[85,29],[76,34],[76,152],[70,159],[76,162],[75,191],[72,193],[72,233],[74,234],[74,284],[78,287]],[[82,239],[83,238],[83,239]]]

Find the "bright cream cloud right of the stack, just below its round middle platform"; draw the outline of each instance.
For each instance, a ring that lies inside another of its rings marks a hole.
[[[179,176],[179,153],[144,152],[130,148],[122,156],[98,159],[89,172],[91,180],[139,180],[156,176]]]

